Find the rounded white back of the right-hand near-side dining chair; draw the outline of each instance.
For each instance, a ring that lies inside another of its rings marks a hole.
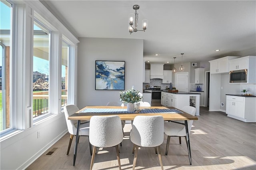
[[[130,133],[131,141],[142,147],[156,147],[164,141],[162,116],[136,116]]]

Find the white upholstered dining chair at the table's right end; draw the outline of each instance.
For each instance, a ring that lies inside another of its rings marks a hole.
[[[195,115],[196,113],[196,108],[192,106],[185,106],[181,109],[182,111],[190,114],[190,115]],[[168,148],[169,148],[169,143],[170,143],[170,137],[171,136],[178,136],[181,144],[181,137],[185,137],[186,142],[186,127],[185,125],[182,125],[180,123],[184,124],[184,121],[171,121],[171,122],[164,122],[164,133],[168,136],[167,137],[167,143],[166,143],[166,151],[165,155],[168,154]],[[190,133],[191,127],[193,124],[193,120],[188,120],[188,133]],[[188,146],[188,144],[187,144]]]

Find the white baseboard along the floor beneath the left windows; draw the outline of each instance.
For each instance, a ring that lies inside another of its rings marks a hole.
[[[44,152],[46,152],[46,150],[52,147],[52,145],[58,142],[58,140],[60,140],[60,138],[62,138],[67,132],[68,132],[68,129],[64,130],[62,133],[56,136],[56,138],[54,138],[51,142],[49,142],[46,146],[44,146],[44,148],[42,148],[36,154],[34,154],[34,156],[32,156],[28,161],[24,162],[24,164],[22,164],[18,169],[24,170],[28,168],[28,166],[30,166],[35,160],[37,160],[42,154],[44,154]]]

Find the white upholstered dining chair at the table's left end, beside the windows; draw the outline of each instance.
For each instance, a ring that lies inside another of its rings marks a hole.
[[[67,127],[68,127],[68,132],[70,133],[70,140],[69,140],[69,144],[68,144],[67,155],[69,154],[73,136],[76,136],[76,130],[77,130],[77,128],[76,128],[77,121],[68,120],[68,117],[70,115],[73,115],[77,111],[79,111],[79,109],[76,105],[64,106],[65,119],[66,119],[66,123],[67,123]],[[80,130],[79,130],[79,136],[88,136],[88,140],[89,140],[89,126],[90,126],[89,122],[81,123]],[[78,140],[79,140],[79,136],[78,136]],[[90,144],[90,141],[88,141],[88,143],[89,143],[89,148],[90,148],[90,154],[92,155],[92,146]]]

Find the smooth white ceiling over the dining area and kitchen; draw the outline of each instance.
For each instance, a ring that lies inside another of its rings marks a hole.
[[[176,63],[256,55],[256,1],[41,1],[76,36],[144,40],[144,61]],[[128,32],[128,14],[138,4],[138,27]],[[216,52],[215,49],[220,49]],[[131,49],[132,50],[132,49]],[[155,56],[155,54],[159,54]]]

